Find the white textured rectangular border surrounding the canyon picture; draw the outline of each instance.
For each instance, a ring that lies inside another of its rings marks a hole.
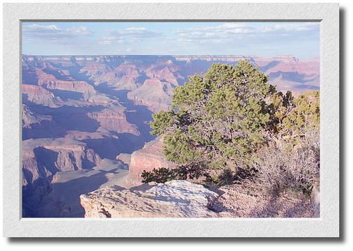
[[[22,218],[22,22],[320,22],[320,218]],[[338,3],[4,3],[3,236],[338,237]]]

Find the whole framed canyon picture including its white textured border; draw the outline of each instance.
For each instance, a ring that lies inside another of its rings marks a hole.
[[[337,3],[3,12],[5,236],[339,236]]]

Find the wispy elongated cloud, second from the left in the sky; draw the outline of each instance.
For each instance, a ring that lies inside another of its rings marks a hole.
[[[107,36],[98,39],[100,44],[112,45],[123,42],[140,42],[150,38],[161,38],[162,33],[149,31],[145,27],[130,27],[126,29],[111,30]]]

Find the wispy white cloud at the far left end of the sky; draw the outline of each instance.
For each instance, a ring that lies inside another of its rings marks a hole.
[[[61,29],[54,24],[25,24],[22,26],[22,36],[34,40],[61,40],[91,36],[86,26],[72,26],[68,29]]]

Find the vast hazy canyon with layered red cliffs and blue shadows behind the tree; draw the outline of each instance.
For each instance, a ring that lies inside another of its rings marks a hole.
[[[125,191],[136,199],[148,189],[161,192],[139,186],[143,170],[173,167],[162,139],[150,135],[152,114],[171,107],[173,90],[188,76],[244,59],[281,91],[319,89],[319,59],[294,56],[23,55],[22,216],[84,217],[87,207],[88,217],[105,217],[98,195]],[[175,196],[175,188],[168,189]],[[214,215],[203,201],[196,205],[201,216]]]

